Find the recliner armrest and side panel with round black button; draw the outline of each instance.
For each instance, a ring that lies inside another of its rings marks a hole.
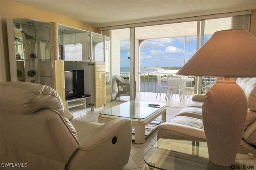
[[[129,160],[131,132],[132,123],[128,118],[105,123],[79,141],[80,147],[66,169],[121,169]]]

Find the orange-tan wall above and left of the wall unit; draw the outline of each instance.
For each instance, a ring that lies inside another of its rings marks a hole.
[[[6,20],[14,18],[28,18],[32,20],[45,21],[45,22],[57,22],[62,25],[67,25],[86,31],[93,31],[100,33],[100,29],[95,28],[93,25],[84,23],[82,21],[74,20],[65,16],[61,16],[45,10],[40,10],[31,6],[27,6],[12,0],[1,0],[0,1],[0,15],[2,17],[2,35],[3,35],[3,47],[4,47],[4,59],[1,58],[1,67],[6,67],[6,81],[10,81],[10,64],[8,54],[8,39],[7,39],[7,28]],[[2,49],[1,49],[2,50]],[[4,63],[5,62],[5,63]],[[1,75],[3,74],[1,69]],[[1,77],[1,81],[2,77]]]

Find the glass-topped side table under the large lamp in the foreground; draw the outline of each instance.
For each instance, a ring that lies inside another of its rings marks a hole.
[[[240,150],[240,152],[243,152]],[[246,153],[244,151],[244,153]],[[255,155],[238,153],[234,165],[220,166],[208,157],[206,142],[160,138],[144,155],[143,170],[232,170],[256,168]]]

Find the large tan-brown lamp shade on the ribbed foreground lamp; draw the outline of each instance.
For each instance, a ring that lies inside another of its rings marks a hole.
[[[255,77],[256,39],[246,29],[217,31],[177,74]]]

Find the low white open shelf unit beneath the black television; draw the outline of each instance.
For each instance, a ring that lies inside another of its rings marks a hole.
[[[74,113],[76,111],[82,111],[84,109],[91,109],[91,107],[86,107],[86,98],[73,98],[70,100],[66,100],[66,110]],[[68,99],[68,98],[67,98]]]

